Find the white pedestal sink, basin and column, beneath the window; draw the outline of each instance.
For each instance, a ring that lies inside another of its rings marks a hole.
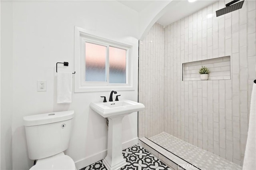
[[[90,103],[90,108],[108,118],[108,154],[103,164],[108,170],[118,170],[127,164],[122,156],[122,119],[125,115],[143,110],[145,106],[130,100],[120,100]]]

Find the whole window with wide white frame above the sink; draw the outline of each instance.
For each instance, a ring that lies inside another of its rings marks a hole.
[[[131,53],[132,45],[75,27],[75,92],[134,90]]]

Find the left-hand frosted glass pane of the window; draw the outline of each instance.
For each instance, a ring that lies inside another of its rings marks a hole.
[[[106,81],[107,47],[85,43],[85,81]]]

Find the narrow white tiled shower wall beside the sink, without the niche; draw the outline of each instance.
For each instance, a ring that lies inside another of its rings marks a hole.
[[[163,26],[156,23],[140,41],[139,102],[145,105],[139,112],[140,137],[164,131],[164,34]]]

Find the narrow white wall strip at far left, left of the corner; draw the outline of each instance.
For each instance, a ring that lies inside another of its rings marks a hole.
[[[1,1],[1,166],[12,169],[12,2]]]

